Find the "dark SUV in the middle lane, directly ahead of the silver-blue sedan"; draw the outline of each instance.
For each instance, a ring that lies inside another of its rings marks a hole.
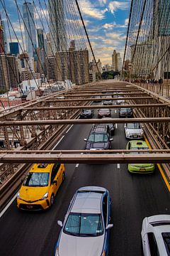
[[[107,124],[94,124],[86,142],[86,150],[106,150],[111,149],[110,129]]]

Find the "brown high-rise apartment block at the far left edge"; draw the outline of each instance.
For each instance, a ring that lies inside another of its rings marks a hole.
[[[0,90],[8,91],[19,84],[18,64],[15,55],[0,54]]]

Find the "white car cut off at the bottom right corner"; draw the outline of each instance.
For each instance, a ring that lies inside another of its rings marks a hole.
[[[170,215],[153,215],[142,222],[144,256],[170,255]]]

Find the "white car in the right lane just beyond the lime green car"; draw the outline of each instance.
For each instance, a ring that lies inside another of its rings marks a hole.
[[[143,139],[144,131],[139,123],[125,124],[124,128],[127,139]]]

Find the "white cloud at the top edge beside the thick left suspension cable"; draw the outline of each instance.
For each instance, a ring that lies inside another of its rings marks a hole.
[[[89,0],[81,0],[80,5],[83,14],[91,16],[92,18],[96,18],[98,20],[102,20],[103,18],[105,18],[104,14],[106,13],[106,11],[108,11],[108,9],[102,10],[94,7],[94,5],[91,4]]]

